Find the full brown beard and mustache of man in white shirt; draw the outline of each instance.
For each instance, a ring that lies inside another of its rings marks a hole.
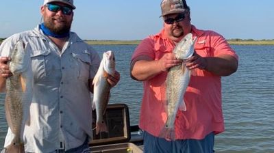
[[[54,20],[58,20],[58,24],[54,23]],[[59,18],[44,18],[44,25],[47,27],[51,32],[62,35],[64,33],[68,33],[71,31],[71,21],[67,21],[62,17]]]

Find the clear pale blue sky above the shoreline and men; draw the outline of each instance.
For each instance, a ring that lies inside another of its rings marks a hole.
[[[160,0],[74,0],[72,31],[86,40],[142,40],[162,28]],[[2,0],[0,38],[40,23],[43,0]],[[225,38],[274,39],[273,0],[188,0],[191,22]]]

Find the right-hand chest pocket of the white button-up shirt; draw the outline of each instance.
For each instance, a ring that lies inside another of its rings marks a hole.
[[[91,58],[88,51],[81,53],[71,53],[73,59],[76,61],[77,66],[77,78],[82,81],[88,81],[90,77]]]

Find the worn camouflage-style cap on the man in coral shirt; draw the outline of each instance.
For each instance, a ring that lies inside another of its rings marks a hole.
[[[161,9],[161,16],[165,16],[167,14],[185,12],[188,10],[188,5],[186,4],[186,0],[162,0]]]

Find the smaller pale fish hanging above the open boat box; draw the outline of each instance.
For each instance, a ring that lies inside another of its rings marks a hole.
[[[103,53],[103,59],[101,60],[99,69],[95,78],[93,79],[93,106],[96,109],[96,134],[99,132],[107,132],[108,128],[103,121],[103,115],[105,114],[106,106],[110,100],[110,83],[108,83],[108,75],[114,75],[115,73],[115,58],[112,51]]]

